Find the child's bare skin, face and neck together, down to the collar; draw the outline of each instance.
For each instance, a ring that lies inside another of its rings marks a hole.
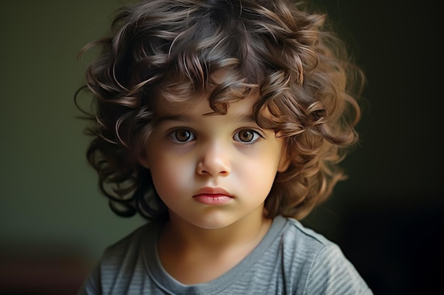
[[[140,163],[170,211],[158,244],[165,270],[179,282],[215,279],[245,258],[270,227],[264,202],[288,167],[284,144],[252,118],[255,96],[226,115],[206,98],[160,103],[160,120]]]

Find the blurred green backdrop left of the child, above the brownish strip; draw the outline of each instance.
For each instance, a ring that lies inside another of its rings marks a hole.
[[[0,241],[79,250],[91,260],[141,219],[109,209],[74,107],[86,60],[119,1],[9,1],[0,18]]]

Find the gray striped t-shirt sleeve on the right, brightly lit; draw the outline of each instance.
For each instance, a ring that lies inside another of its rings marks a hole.
[[[313,260],[305,294],[372,295],[372,291],[345,258],[338,245],[321,248]]]

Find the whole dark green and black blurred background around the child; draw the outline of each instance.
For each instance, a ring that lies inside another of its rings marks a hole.
[[[340,244],[374,294],[431,294],[443,277],[443,66],[438,7],[317,0],[367,74],[350,175],[304,223]],[[79,50],[118,0],[7,1],[0,18],[0,294],[75,294],[107,245],[143,220],[114,215],[73,96]]]

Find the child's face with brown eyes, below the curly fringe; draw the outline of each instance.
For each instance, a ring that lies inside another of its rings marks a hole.
[[[204,115],[213,112],[205,98],[161,103],[140,162],[171,220],[221,229],[262,216],[274,177],[288,163],[282,139],[255,123],[254,103],[253,96],[231,103],[226,115]]]

